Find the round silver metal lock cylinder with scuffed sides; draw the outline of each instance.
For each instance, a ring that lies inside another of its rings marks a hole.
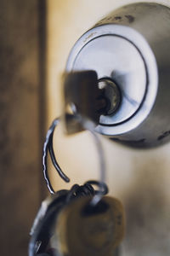
[[[149,148],[170,139],[170,9],[134,3],[116,9],[82,35],[66,72],[94,70],[111,100],[96,131]]]

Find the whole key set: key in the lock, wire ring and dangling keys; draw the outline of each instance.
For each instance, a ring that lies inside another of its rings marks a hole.
[[[59,176],[65,182],[70,178],[55,158],[53,137],[59,119],[54,119],[42,156],[43,175],[51,196],[42,202],[32,226],[29,256],[117,256],[124,236],[125,214],[122,203],[106,195],[104,154],[94,131],[94,123],[99,123],[107,106],[104,91],[99,90],[94,71],[68,73],[64,88],[65,131],[91,131],[99,152],[101,178],[100,182],[88,181],[55,192],[48,177],[48,155]],[[67,113],[68,106],[71,113]],[[94,189],[96,186],[99,189]]]

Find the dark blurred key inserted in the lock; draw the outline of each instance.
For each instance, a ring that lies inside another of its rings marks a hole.
[[[64,120],[65,131],[73,134],[83,131],[84,127],[70,113],[78,113],[82,118],[89,119],[95,125],[99,124],[99,108],[103,103],[102,90],[98,87],[98,77],[95,71],[82,71],[64,74]],[[102,99],[102,100],[101,100]]]

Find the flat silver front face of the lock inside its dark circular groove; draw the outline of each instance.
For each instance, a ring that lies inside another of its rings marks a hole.
[[[99,79],[113,79],[122,92],[120,108],[111,115],[101,115],[101,125],[119,124],[138,110],[147,86],[146,71],[139,50],[127,39],[105,34],[89,41],[72,67],[75,71],[84,69],[95,70]]]

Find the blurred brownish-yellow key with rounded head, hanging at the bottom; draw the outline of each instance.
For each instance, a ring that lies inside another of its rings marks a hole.
[[[116,255],[125,232],[122,203],[110,196],[103,197],[96,207],[90,201],[91,196],[78,198],[59,213],[52,241],[59,255]]]

